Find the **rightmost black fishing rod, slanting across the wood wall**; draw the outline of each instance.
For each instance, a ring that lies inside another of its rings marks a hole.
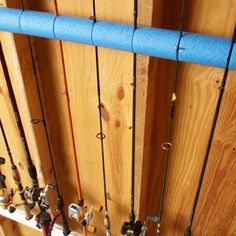
[[[184,236],[191,236],[191,233],[192,233],[192,224],[193,224],[195,211],[196,211],[197,204],[198,204],[198,199],[199,199],[201,189],[202,189],[202,183],[203,183],[203,179],[205,176],[205,171],[206,171],[206,167],[207,167],[207,163],[208,163],[208,159],[209,159],[209,154],[211,151],[211,146],[212,146],[212,142],[213,142],[213,137],[214,137],[217,121],[218,121],[219,114],[220,114],[220,108],[221,108],[223,95],[224,95],[224,91],[225,91],[225,86],[226,86],[226,82],[227,82],[227,78],[228,78],[230,59],[232,56],[232,52],[233,52],[233,48],[234,48],[235,43],[236,43],[236,24],[234,25],[234,33],[233,33],[231,45],[229,48],[229,53],[228,53],[228,57],[227,57],[227,61],[226,61],[225,69],[224,69],[224,74],[223,74],[221,86],[218,88],[219,89],[219,96],[218,96],[218,100],[217,100],[217,104],[216,104],[216,110],[215,110],[215,114],[213,117],[213,122],[212,122],[211,130],[210,130],[210,134],[209,134],[209,139],[208,139],[208,143],[207,143],[205,156],[204,156],[204,159],[202,162],[201,172],[200,172],[200,176],[198,179],[198,185],[197,185],[195,197],[193,200],[193,206],[192,206],[192,209],[190,212],[190,216],[188,219],[188,224],[187,224]]]

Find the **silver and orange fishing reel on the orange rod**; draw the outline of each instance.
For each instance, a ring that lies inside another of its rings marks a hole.
[[[88,232],[95,233],[97,228],[90,224],[90,221],[93,218],[93,211],[101,212],[102,209],[103,207],[99,204],[91,206],[88,210],[88,207],[84,207],[83,204],[72,203],[68,207],[68,215],[69,218],[77,220],[83,227],[86,227]]]

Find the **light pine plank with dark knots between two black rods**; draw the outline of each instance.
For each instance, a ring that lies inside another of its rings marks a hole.
[[[97,1],[98,19],[133,22],[133,1]],[[108,208],[112,233],[118,234],[130,212],[132,75],[130,53],[99,48]]]

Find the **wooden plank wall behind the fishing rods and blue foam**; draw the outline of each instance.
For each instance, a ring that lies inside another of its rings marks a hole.
[[[0,2],[6,3],[3,0]],[[96,2],[99,19],[132,23],[133,1]],[[21,8],[19,0],[8,0],[7,4]],[[53,1],[28,0],[24,1],[24,5],[29,9],[55,12]],[[139,5],[139,24],[178,29],[180,0],[140,0]],[[58,7],[59,14],[62,15],[92,15],[91,0],[58,0]],[[189,0],[184,29],[231,37],[236,20],[235,12],[235,0]],[[1,33],[0,39],[4,46],[30,150],[40,173],[40,182],[42,185],[45,182],[53,183],[43,124],[31,123],[32,119],[42,119],[42,114],[28,39],[19,35],[13,37],[9,33]],[[68,83],[66,91],[59,42],[40,38],[32,38],[32,42],[46,122],[50,131],[50,144],[57,163],[56,169],[65,204],[67,206],[78,200],[73,164],[75,153],[67,107],[69,98],[76,158],[85,203],[91,205],[98,202],[103,205],[101,150],[96,138],[99,132],[99,117],[94,48],[63,42]],[[112,235],[120,235],[120,226],[128,219],[130,200],[132,55],[111,49],[99,49],[99,67],[103,125],[106,134],[108,208]],[[174,71],[174,62],[138,57],[136,210],[141,219],[150,214],[157,214],[159,210],[165,157],[161,144],[167,138]],[[162,235],[183,235],[222,75],[223,69],[181,63]],[[0,78],[0,116],[6,127],[14,156],[17,158],[24,184],[30,184],[1,67]],[[235,72],[231,72],[194,220],[193,235],[236,235],[235,78]],[[2,138],[0,155],[7,157]],[[8,165],[4,166],[3,171],[6,173],[8,168]],[[10,173],[7,183],[9,186],[13,184]],[[55,205],[53,197],[51,203]],[[96,235],[103,235],[103,217],[103,213],[95,215],[94,224],[98,227]],[[74,230],[80,230],[74,221],[70,221],[70,224]],[[17,232],[18,235],[28,235],[24,230]],[[154,225],[150,225],[149,235],[154,235],[153,232]]]

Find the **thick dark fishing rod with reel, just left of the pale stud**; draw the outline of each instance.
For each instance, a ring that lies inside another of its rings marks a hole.
[[[20,118],[20,113],[19,113],[19,109],[18,109],[18,106],[16,103],[16,98],[15,98],[15,94],[14,94],[14,91],[12,88],[11,79],[10,79],[10,75],[8,72],[8,68],[7,68],[7,64],[6,64],[6,60],[5,60],[5,56],[3,53],[1,42],[0,42],[0,61],[2,64],[3,73],[5,76],[5,81],[6,81],[9,97],[10,97],[11,104],[12,104],[12,107],[14,110],[14,116],[15,116],[15,120],[16,120],[16,124],[17,124],[17,128],[18,128],[18,132],[19,132],[19,135],[21,138],[21,143],[22,143],[25,158],[27,161],[28,173],[29,173],[29,176],[32,181],[32,187],[25,188],[25,198],[31,200],[32,202],[37,202],[39,205],[39,208],[41,209],[39,196],[40,196],[40,192],[42,191],[42,188],[39,187],[37,170],[36,170],[36,167],[32,161],[31,154],[29,151],[29,146],[28,146],[28,143],[26,140],[25,131],[24,131],[23,124],[22,124],[22,121]]]

